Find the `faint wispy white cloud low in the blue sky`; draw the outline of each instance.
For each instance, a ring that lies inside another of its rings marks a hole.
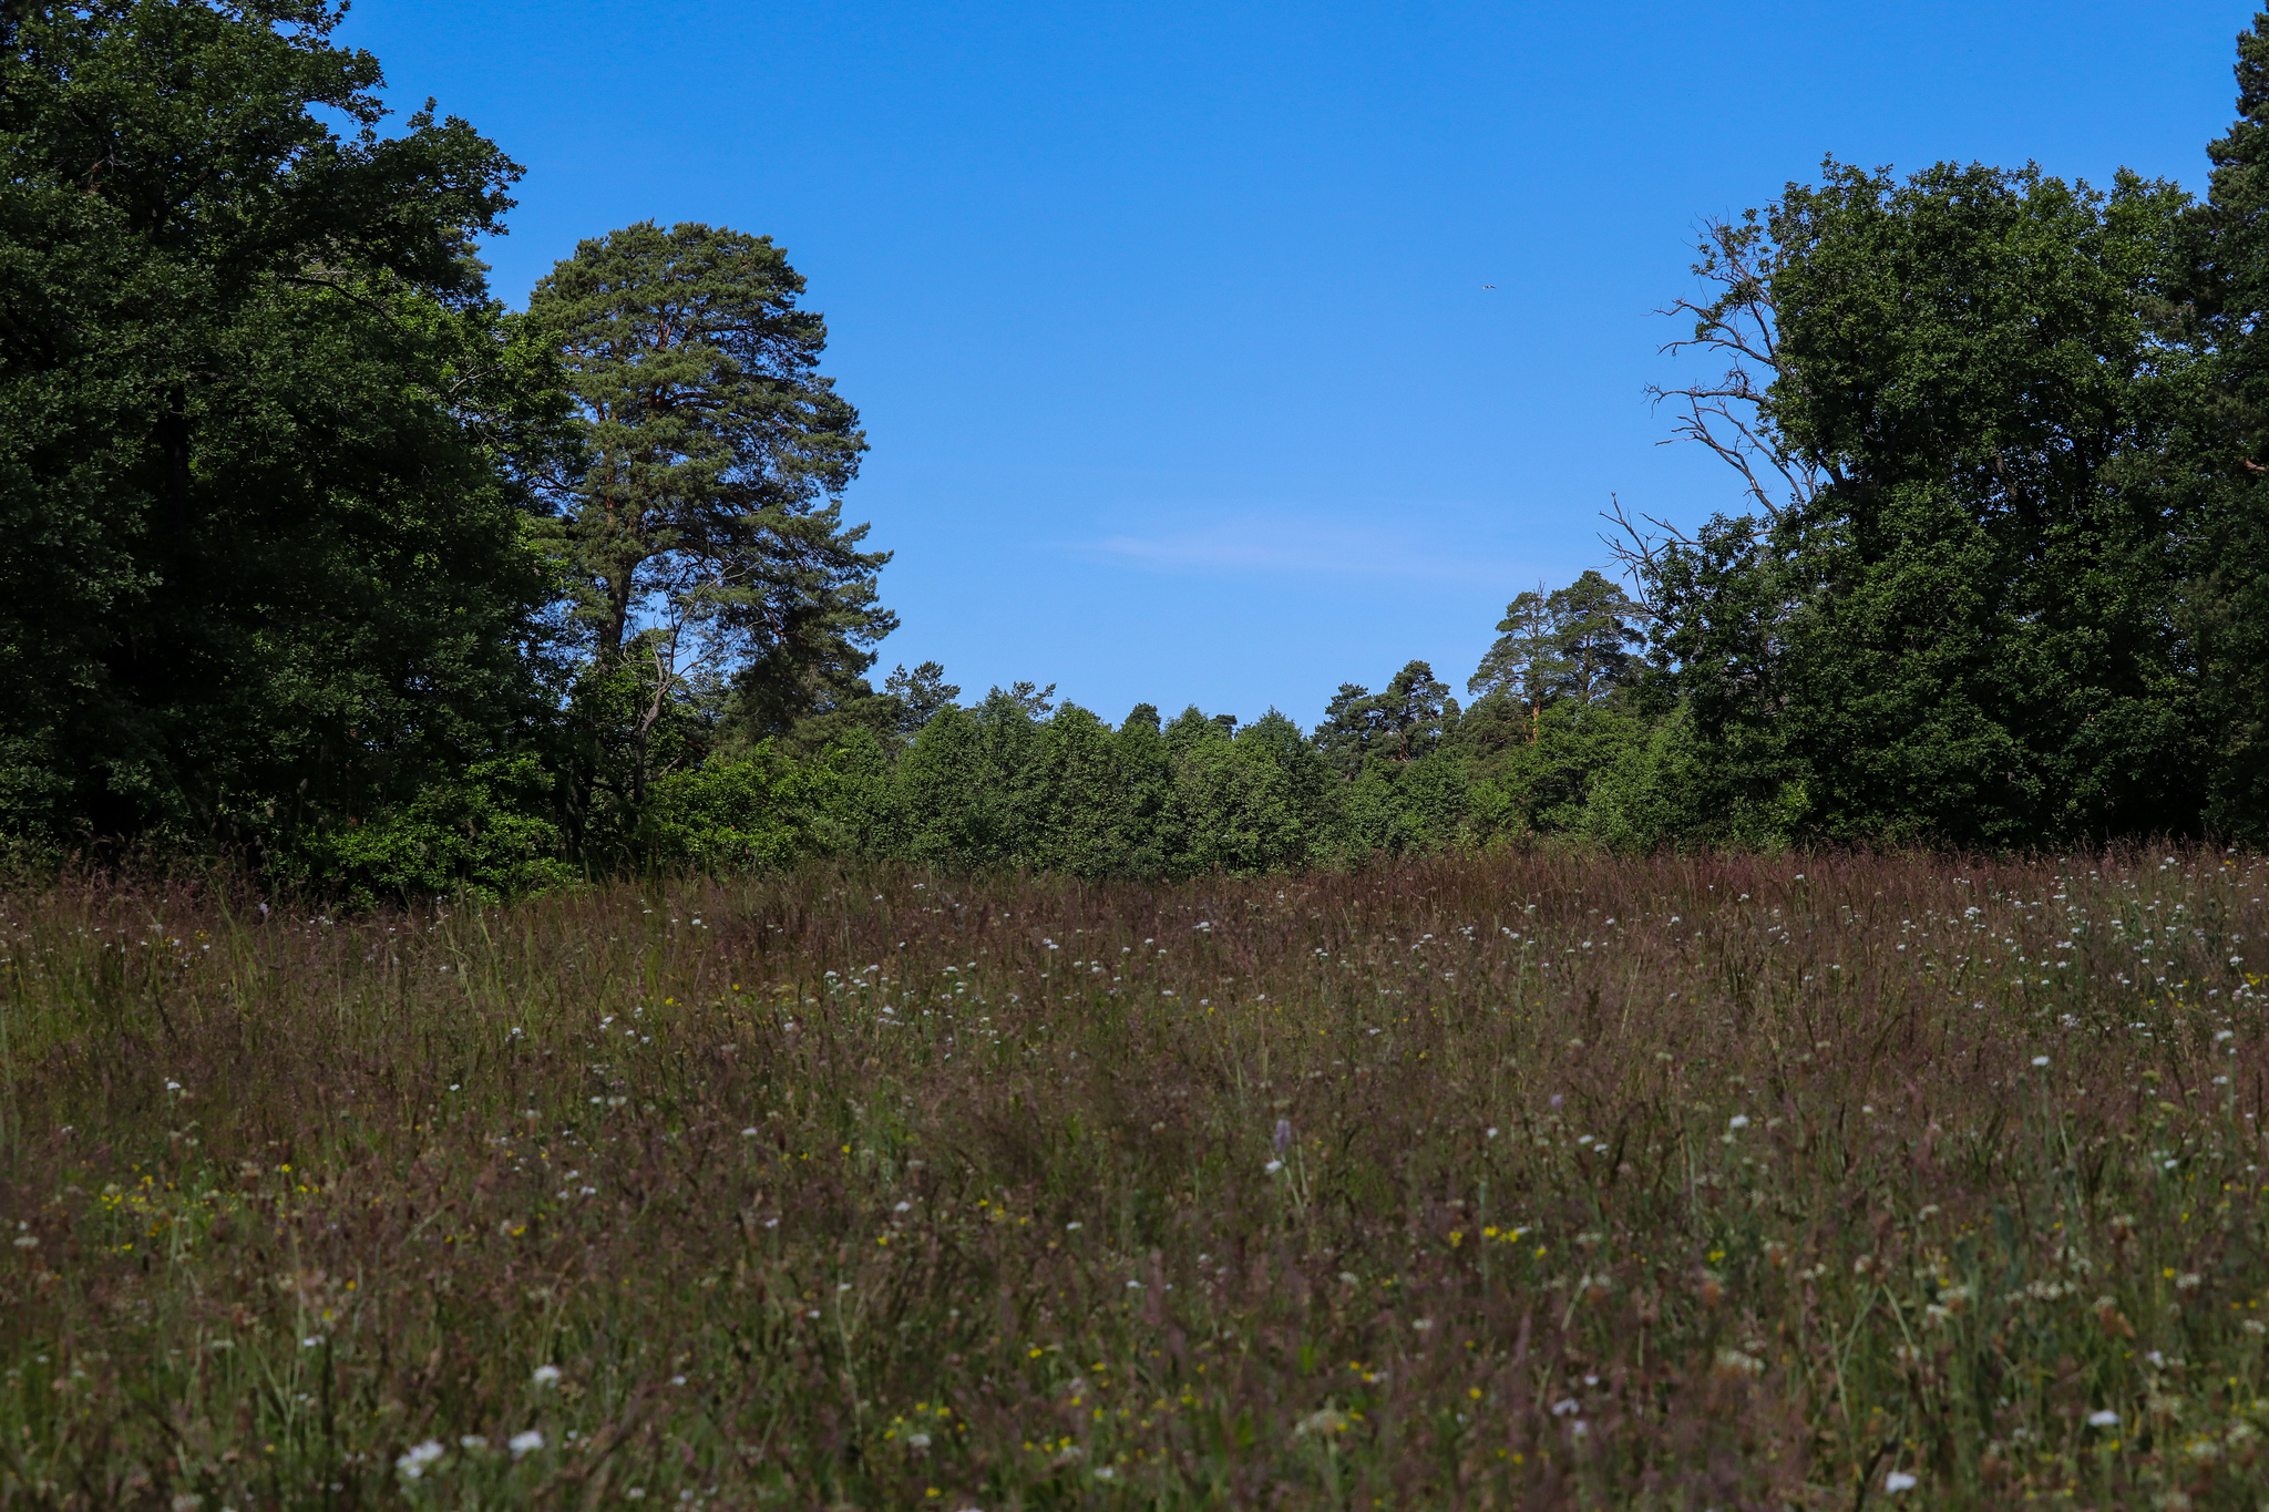
[[[1237,515],[1155,535],[1107,535],[1098,542],[1078,542],[1071,551],[1159,574],[1439,583],[1509,583],[1522,576],[1516,562],[1457,551],[1418,530],[1291,515]]]

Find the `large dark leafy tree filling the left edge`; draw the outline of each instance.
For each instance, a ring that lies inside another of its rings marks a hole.
[[[511,741],[558,406],[472,247],[517,168],[381,138],[331,5],[7,18],[0,823],[295,843]]]

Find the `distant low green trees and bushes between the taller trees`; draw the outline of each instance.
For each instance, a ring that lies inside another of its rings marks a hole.
[[[1638,605],[1597,571],[1522,601],[1470,710],[1409,662],[1377,694],[1343,685],[1307,732],[1275,710],[1241,723],[1196,705],[1173,719],[1137,705],[1114,728],[1030,682],[962,705],[939,664],[899,666],[883,694],[749,746],[717,737],[658,773],[622,855],[699,870],[853,855],[1187,877],[1538,830],[1643,843],[1616,784],[1652,730],[1631,700]],[[354,830],[340,857],[359,884],[399,893],[567,880],[572,848],[540,818],[549,791],[533,762],[481,766]]]

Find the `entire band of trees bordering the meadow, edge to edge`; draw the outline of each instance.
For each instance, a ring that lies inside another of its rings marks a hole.
[[[1314,728],[871,676],[887,553],[765,236],[497,299],[520,168],[381,131],[322,0],[0,5],[0,832],[365,895],[910,857],[1082,875],[1611,846],[2260,839],[2269,14],[2203,197],[1824,163],[1711,224],[1613,510]],[[334,122],[345,122],[343,127]],[[1627,585],[1627,587],[1625,587]],[[1391,657],[1384,660],[1393,664]]]

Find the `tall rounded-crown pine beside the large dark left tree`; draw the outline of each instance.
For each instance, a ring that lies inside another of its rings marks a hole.
[[[712,678],[749,737],[783,734],[871,696],[867,646],[896,623],[876,601],[887,553],[842,521],[867,442],[817,369],[826,322],[801,292],[765,236],[640,222],[529,297],[585,431],[583,465],[551,483],[572,619],[590,676],[647,710],[610,793],[631,809],[672,700]]]

